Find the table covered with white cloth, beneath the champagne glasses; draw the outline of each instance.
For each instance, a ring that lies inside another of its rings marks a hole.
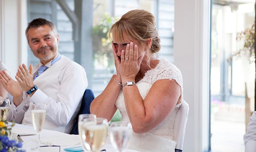
[[[32,126],[15,123],[12,128],[12,137],[17,137],[17,139],[23,141],[22,150],[26,150],[26,152],[35,152],[35,150],[31,150],[31,148],[37,145],[37,134]],[[70,135],[46,129],[41,131],[39,152],[66,152],[66,148],[82,149],[79,135]],[[106,152],[117,152],[110,142],[106,142],[102,150]],[[126,149],[126,152],[139,151]]]

